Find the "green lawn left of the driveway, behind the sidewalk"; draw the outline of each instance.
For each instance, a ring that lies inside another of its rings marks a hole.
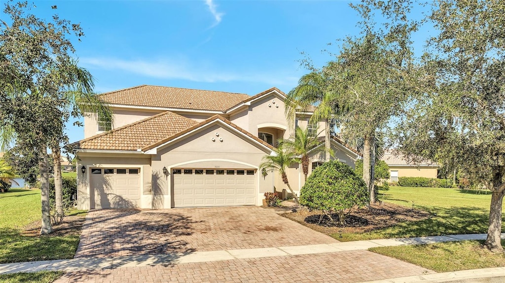
[[[40,190],[0,193],[0,263],[74,257],[79,235],[23,235],[24,227],[40,220],[40,207]]]

